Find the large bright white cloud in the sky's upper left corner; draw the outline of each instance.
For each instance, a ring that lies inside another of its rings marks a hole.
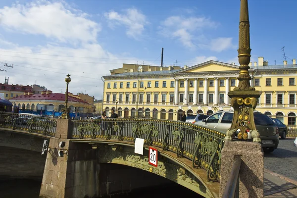
[[[87,16],[64,2],[38,0],[4,6],[0,9],[0,25],[18,33],[44,35],[61,42],[95,42],[100,25]]]

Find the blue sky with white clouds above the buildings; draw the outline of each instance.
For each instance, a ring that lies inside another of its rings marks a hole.
[[[249,0],[251,61],[297,58],[297,0]],[[102,99],[123,63],[238,64],[240,0],[0,0],[0,82]],[[13,65],[5,67],[4,64]]]

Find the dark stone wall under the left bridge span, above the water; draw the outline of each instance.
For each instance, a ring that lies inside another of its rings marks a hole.
[[[0,179],[42,180],[45,162],[41,152],[0,146]]]

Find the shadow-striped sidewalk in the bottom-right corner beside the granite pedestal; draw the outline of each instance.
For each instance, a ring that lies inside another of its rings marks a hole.
[[[297,198],[297,181],[265,169],[264,198]]]

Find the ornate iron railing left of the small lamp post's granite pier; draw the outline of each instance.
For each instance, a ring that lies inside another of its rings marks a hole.
[[[0,112],[0,127],[54,136],[57,121],[41,116]]]

